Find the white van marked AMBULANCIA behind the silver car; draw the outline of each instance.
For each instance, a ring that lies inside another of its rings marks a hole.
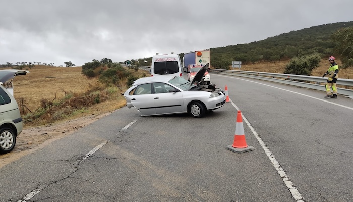
[[[180,76],[183,77],[182,65],[178,54],[156,54],[152,57],[152,76]]]

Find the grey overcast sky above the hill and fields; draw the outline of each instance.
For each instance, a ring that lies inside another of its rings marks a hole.
[[[352,0],[0,0],[0,8],[0,64],[55,66],[186,53],[353,20]]]

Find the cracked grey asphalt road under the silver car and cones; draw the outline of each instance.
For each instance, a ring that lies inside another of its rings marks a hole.
[[[196,119],[126,107],[0,169],[1,201],[352,201],[353,100],[211,75]],[[236,113],[255,150],[233,153]]]

